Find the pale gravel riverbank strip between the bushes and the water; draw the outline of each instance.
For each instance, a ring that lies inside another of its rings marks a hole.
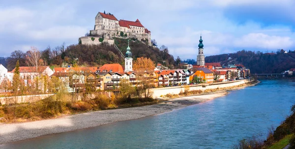
[[[47,134],[67,132],[103,124],[112,124],[119,121],[139,119],[169,112],[187,105],[205,102],[225,96],[226,94],[226,91],[219,91],[206,95],[170,99],[159,104],[148,106],[87,112],[27,123],[0,124],[0,144],[35,138]]]

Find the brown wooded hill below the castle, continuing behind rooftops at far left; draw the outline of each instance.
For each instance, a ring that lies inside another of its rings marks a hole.
[[[101,43],[100,45],[75,44],[68,47],[61,45],[53,49],[48,46],[48,48],[41,51],[41,58],[46,65],[60,66],[62,63],[73,66],[102,66],[111,63],[124,65],[124,55],[128,46],[128,40],[115,38],[115,44],[118,48],[107,43]],[[167,47],[166,49],[159,50],[158,48],[147,46],[136,39],[130,40],[129,47],[131,48],[133,59],[143,56],[150,58],[155,63],[161,63],[170,68],[175,65],[174,57],[169,54]],[[26,54],[26,52],[21,50],[15,50],[10,57],[0,57],[0,63],[8,71],[14,69],[17,60],[20,60],[20,66],[27,66]]]

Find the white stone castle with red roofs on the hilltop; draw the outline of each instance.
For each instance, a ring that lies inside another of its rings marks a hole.
[[[95,17],[94,28],[90,30],[89,35],[90,36],[79,38],[79,43],[97,45],[100,44],[100,42],[108,42],[114,44],[112,37],[118,37],[135,38],[151,46],[150,31],[145,28],[138,19],[135,22],[118,20],[110,13],[98,12]],[[103,38],[103,41],[99,41],[99,38]]]

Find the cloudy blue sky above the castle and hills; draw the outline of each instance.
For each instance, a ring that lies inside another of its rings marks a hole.
[[[1,0],[0,57],[78,39],[98,12],[140,22],[181,59],[239,50],[295,50],[295,0]],[[132,50],[132,49],[131,49]]]

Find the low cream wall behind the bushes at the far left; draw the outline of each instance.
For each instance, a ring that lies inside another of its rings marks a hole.
[[[54,94],[44,94],[44,95],[28,95],[28,96],[14,96],[14,97],[1,97],[0,103],[1,104],[12,104],[17,100],[17,103],[31,103],[35,101],[39,101],[45,99],[47,97],[53,96]]]

